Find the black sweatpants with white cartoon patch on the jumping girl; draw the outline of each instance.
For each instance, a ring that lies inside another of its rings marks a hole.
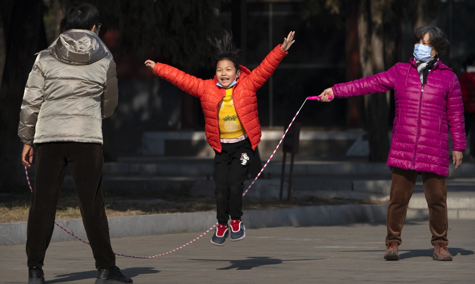
[[[249,172],[255,151],[249,138],[235,143],[221,143],[221,153],[215,150],[214,179],[217,212],[216,218],[221,225],[242,216],[242,192],[244,181]]]

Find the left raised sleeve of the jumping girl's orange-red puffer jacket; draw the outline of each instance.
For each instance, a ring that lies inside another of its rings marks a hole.
[[[200,98],[203,95],[205,81],[175,67],[157,62],[153,67],[153,74],[171,82],[192,96]]]

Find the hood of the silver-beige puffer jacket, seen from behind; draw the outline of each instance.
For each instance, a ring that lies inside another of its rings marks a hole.
[[[47,51],[57,60],[71,65],[91,64],[109,54],[97,34],[86,29],[67,30]]]

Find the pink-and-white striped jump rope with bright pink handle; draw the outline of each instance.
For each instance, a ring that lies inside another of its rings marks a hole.
[[[328,96],[328,98],[330,100],[333,99],[333,97],[331,95]],[[282,141],[284,140],[284,137],[285,135],[287,134],[287,131],[289,130],[289,128],[292,126],[292,123],[294,123],[294,120],[295,118],[297,117],[298,113],[300,112],[300,110],[302,110],[302,107],[304,106],[305,102],[307,100],[320,100],[320,97],[318,96],[314,96],[314,97],[307,97],[304,101],[304,103],[302,104],[302,106],[300,107],[300,109],[297,111],[297,113],[295,114],[294,118],[292,119],[292,121],[290,122],[289,126],[287,127],[287,129],[285,130],[284,132],[284,135],[282,136],[282,138],[280,139],[279,141],[279,144],[277,144],[277,147],[276,149],[274,150],[274,152],[272,152],[272,155],[270,155],[269,159],[267,160],[266,164],[262,167],[262,169],[260,170],[260,172],[257,174],[256,178],[254,178],[254,180],[252,181],[251,184],[249,184],[249,186],[247,187],[246,191],[243,192],[242,196],[246,195],[246,193],[249,191],[249,189],[252,187],[252,185],[256,182],[256,180],[259,178],[259,176],[262,174],[262,172],[264,171],[264,169],[266,168],[267,164],[269,164],[270,160],[272,159],[272,157],[274,156],[274,154],[276,154],[276,151],[277,149],[279,148],[280,144],[282,143]],[[28,170],[27,170],[27,167],[25,166],[25,174],[27,176],[27,181],[28,181],[28,186],[30,188],[30,191],[33,192],[33,189],[31,188],[31,184],[29,182],[29,178],[28,178]],[[69,232],[68,230],[66,230],[65,228],[61,227],[56,221],[55,221],[55,225],[58,226],[59,228],[63,229],[66,233],[68,233],[69,235],[73,236],[74,238],[82,241],[83,243],[85,244],[89,244],[89,242],[81,239],[81,238],[78,238],[77,236],[75,236],[73,233]],[[162,254],[159,254],[159,255],[156,255],[156,256],[152,256],[152,257],[136,257],[136,256],[128,256],[128,255],[124,255],[124,254],[118,254],[118,253],[114,253],[116,256],[121,256],[121,257],[133,257],[133,258],[155,258],[155,257],[161,257],[161,256],[164,256],[164,255],[168,255],[168,254],[171,254],[172,252],[175,252],[177,250],[179,250],[180,248],[183,248],[183,247],[186,247],[188,245],[190,245],[191,243],[193,243],[194,241],[198,240],[199,238],[203,237],[204,235],[206,235],[209,231],[211,231],[213,228],[215,228],[216,226],[218,225],[218,223],[214,224],[211,228],[209,228],[206,232],[202,233],[201,235],[199,235],[197,238],[194,238],[193,240],[189,241],[188,243],[182,245],[181,247],[177,247],[169,252],[165,252],[165,253],[162,253]]]

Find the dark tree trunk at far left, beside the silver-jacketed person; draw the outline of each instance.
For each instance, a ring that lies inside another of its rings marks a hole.
[[[35,53],[47,47],[38,46],[46,38],[42,0],[15,1],[10,15],[0,88],[0,192],[11,192],[22,184],[19,111]]]

